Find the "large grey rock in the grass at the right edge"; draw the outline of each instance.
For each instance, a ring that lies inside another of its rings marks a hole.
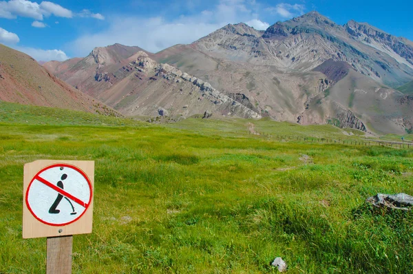
[[[413,197],[406,193],[398,193],[395,195],[378,193],[366,199],[374,207],[387,207],[388,209],[401,209],[408,211],[413,207]]]

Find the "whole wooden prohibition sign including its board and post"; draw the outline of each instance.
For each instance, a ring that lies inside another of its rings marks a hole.
[[[92,233],[94,161],[24,166],[23,238],[47,237],[47,273],[72,273],[72,235]]]

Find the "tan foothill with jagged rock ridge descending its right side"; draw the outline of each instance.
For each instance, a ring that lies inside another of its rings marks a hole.
[[[98,96],[123,114],[180,118],[210,113],[261,118],[244,105],[246,97],[230,98],[176,67],[156,63],[145,52],[134,57],[129,63],[134,72]]]

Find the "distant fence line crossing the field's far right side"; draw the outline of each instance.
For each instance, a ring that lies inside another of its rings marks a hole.
[[[255,136],[263,136],[278,140],[297,140],[303,141],[306,143],[324,143],[324,144],[342,144],[342,145],[358,145],[358,146],[381,146],[381,147],[394,147],[399,149],[410,149],[413,148],[413,143],[408,142],[394,142],[394,141],[385,141],[385,140],[351,140],[351,139],[332,139],[332,138],[314,138],[314,137],[302,137],[302,136],[294,136],[294,135],[275,135],[275,134],[268,134],[265,132],[251,132],[248,131],[249,134]]]

